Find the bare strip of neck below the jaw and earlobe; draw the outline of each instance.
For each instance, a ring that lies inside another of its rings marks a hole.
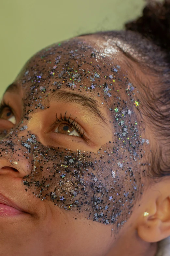
[[[155,256],[157,250],[158,243],[147,243],[140,239],[137,231],[133,235],[129,231],[120,235],[105,256]]]

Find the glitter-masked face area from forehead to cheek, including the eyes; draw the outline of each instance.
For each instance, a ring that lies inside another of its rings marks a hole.
[[[119,54],[78,38],[43,49],[9,86],[0,111],[1,159],[23,170],[26,193],[117,227],[132,213],[149,144]]]

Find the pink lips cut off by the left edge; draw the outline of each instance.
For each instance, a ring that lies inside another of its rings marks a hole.
[[[25,213],[25,211],[0,192],[0,216],[9,216],[21,213]]]

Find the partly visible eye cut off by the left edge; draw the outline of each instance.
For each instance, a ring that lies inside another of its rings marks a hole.
[[[6,104],[1,104],[0,106],[0,118],[7,120],[14,125],[17,123],[12,109]]]

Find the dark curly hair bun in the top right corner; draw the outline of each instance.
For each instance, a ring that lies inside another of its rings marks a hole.
[[[125,24],[126,30],[139,32],[151,39],[162,49],[170,51],[170,1],[156,2],[145,0],[148,4],[143,9],[143,16]]]

